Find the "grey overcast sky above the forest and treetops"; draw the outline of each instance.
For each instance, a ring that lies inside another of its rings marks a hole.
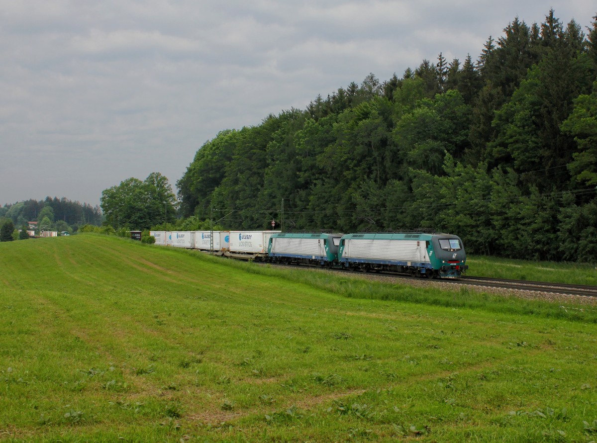
[[[516,16],[586,28],[594,0],[0,0],[0,204],[99,204],[129,177],[176,192],[227,128],[373,72],[477,60]]]

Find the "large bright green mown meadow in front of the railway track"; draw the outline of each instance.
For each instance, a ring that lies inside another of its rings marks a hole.
[[[0,244],[3,441],[595,439],[590,309],[107,236]]]

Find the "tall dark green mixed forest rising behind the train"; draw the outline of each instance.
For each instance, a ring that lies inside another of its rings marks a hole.
[[[597,17],[516,18],[476,60],[221,131],[177,185],[184,216],[232,229],[429,228],[469,253],[597,262]]]

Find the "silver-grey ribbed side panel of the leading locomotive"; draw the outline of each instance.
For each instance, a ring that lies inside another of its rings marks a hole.
[[[425,242],[417,240],[346,239],[342,253],[347,259],[391,260],[393,262],[428,262]]]

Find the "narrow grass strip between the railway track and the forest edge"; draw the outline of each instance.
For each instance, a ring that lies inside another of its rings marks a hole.
[[[469,256],[467,275],[513,280],[597,286],[597,267],[590,263],[528,262]]]

